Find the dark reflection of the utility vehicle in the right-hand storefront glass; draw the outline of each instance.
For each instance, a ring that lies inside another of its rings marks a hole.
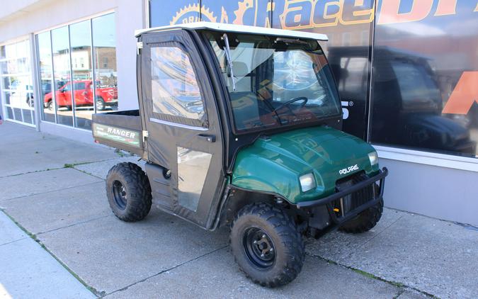
[[[466,125],[442,115],[443,98],[430,59],[375,46],[372,142],[476,155]]]

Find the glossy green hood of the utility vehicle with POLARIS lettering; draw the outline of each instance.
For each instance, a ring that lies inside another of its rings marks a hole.
[[[232,184],[276,193],[291,203],[311,201],[334,193],[338,179],[358,171],[375,174],[378,165],[372,167],[368,158],[374,151],[363,140],[329,127],[283,132],[259,138],[237,154]],[[355,164],[357,169],[339,173]],[[317,188],[302,192],[299,177],[311,172]]]

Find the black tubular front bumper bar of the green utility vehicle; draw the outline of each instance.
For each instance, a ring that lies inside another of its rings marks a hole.
[[[387,167],[384,167],[382,170],[380,170],[379,174],[372,176],[371,178],[366,179],[364,181],[360,181],[357,184],[354,184],[353,186],[346,188],[345,190],[338,191],[332,194],[331,196],[320,198],[320,199],[317,199],[316,201],[304,201],[301,203],[297,203],[297,208],[307,209],[307,208],[315,208],[318,206],[326,206],[327,211],[329,212],[331,221],[334,222],[334,224],[336,225],[341,225],[343,222],[351,220],[359,213],[363,212],[364,210],[367,210],[373,205],[376,205],[382,200],[383,191],[385,188],[385,176],[387,175],[388,175],[388,169]],[[380,181],[379,191],[377,192],[377,195],[374,195],[373,198],[367,201],[366,203],[363,203],[362,205],[359,205],[353,210],[348,211],[346,215],[337,217],[336,213],[334,212],[334,207],[332,205],[332,202],[338,201],[341,198],[344,198],[348,195],[351,195],[352,193],[360,191],[361,189],[365,187],[375,184],[377,181]]]

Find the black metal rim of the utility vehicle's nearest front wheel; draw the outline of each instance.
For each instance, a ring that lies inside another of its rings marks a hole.
[[[250,227],[244,232],[244,252],[254,266],[259,269],[270,268],[275,261],[275,247],[271,237],[258,227]]]

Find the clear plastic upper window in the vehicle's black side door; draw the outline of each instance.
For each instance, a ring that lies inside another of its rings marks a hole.
[[[204,105],[189,57],[179,47],[151,48],[153,112],[205,120]]]

